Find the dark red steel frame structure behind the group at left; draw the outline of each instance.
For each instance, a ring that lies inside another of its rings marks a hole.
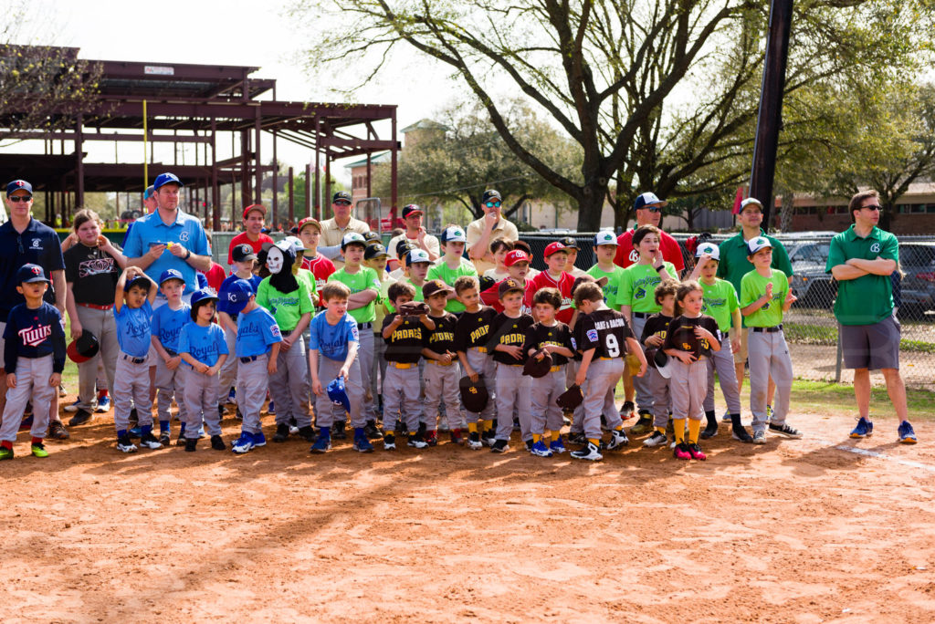
[[[15,48],[3,47],[0,54],[9,54]],[[78,59],[78,49],[56,50],[65,57]],[[35,149],[33,153],[0,153],[0,171],[8,179],[28,179],[36,193],[44,193],[47,222],[56,214],[68,222],[76,206],[82,206],[85,192],[137,191],[141,197],[147,177],[151,179],[171,170],[186,183],[184,209],[202,216],[206,225],[220,230],[223,211],[228,208],[221,206],[223,185],[234,188],[239,185],[239,196],[247,204],[260,202],[265,175],[272,177],[273,188],[281,188],[279,172],[268,164],[276,162],[280,140],[309,149],[305,173],[306,179],[314,180],[314,187],[313,192],[305,193],[305,206],[295,206],[295,174],[290,167],[286,176],[287,206],[279,206],[277,193],[273,193],[270,222],[309,214],[320,216],[321,198],[331,194],[331,163],[338,158],[369,156],[381,150],[391,152],[392,203],[396,206],[399,143],[395,105],[279,101],[275,79],[252,78],[258,67],[129,61],[83,63],[99,71],[100,79],[93,100],[82,112],[65,120],[64,130],[61,123],[60,129],[52,132],[15,127],[13,120],[22,111],[7,108],[0,113],[0,135],[4,138],[18,139],[16,145],[22,145],[22,141],[43,144],[41,151]],[[387,135],[384,130],[384,136],[380,136],[377,123],[382,122],[385,128],[386,121],[390,131]],[[263,133],[272,136],[271,153],[261,154]],[[137,163],[91,163],[84,151],[89,141],[147,142],[150,150],[144,159],[143,147]],[[218,160],[222,141],[226,141],[224,147],[230,146],[233,157]],[[172,143],[177,148],[194,146],[194,163],[179,163],[179,149],[175,150],[175,162],[152,162],[154,143]],[[261,159],[266,159],[267,164]],[[229,194],[233,200],[235,193]],[[239,221],[242,208],[231,201],[232,222]]]

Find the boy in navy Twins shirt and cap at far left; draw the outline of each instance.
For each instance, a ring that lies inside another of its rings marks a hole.
[[[49,405],[65,369],[65,330],[54,305],[42,301],[50,281],[38,264],[23,264],[16,273],[16,290],[26,303],[9,311],[4,329],[4,368],[7,371],[7,404],[0,424],[0,460],[13,459],[13,442],[26,403],[36,405],[30,433],[32,454],[49,457],[42,440],[49,427]]]

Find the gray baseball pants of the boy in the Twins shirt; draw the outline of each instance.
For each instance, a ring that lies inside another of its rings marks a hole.
[[[16,359],[16,388],[7,388],[7,404],[3,408],[3,421],[0,422],[0,440],[15,442],[20,432],[22,413],[30,399],[36,409],[33,410],[33,437],[44,438],[49,429],[49,410],[40,409],[40,405],[50,405],[58,388],[49,385],[52,376],[52,356],[41,358]]]

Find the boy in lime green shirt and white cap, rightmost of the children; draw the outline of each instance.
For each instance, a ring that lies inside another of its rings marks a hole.
[[[792,358],[785,344],[783,314],[796,301],[789,280],[772,268],[772,243],[766,236],[747,241],[754,270],[741,279],[741,314],[746,319],[747,362],[750,366],[750,411],[754,444],[766,444],[766,395],[770,377],[776,384],[770,432],[790,438],[802,434],[785,422],[792,391]]]

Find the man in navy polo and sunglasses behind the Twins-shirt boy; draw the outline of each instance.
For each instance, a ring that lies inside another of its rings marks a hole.
[[[16,291],[19,286],[16,272],[23,264],[38,264],[51,277],[52,288],[46,291],[45,299],[55,305],[65,319],[65,258],[58,234],[33,219],[33,185],[26,180],[13,180],[7,184],[5,203],[9,220],[0,225],[0,353],[4,349],[3,333],[7,329],[9,311],[26,301]],[[0,368],[0,414],[6,403],[7,373]],[[53,419],[49,422],[49,437],[59,440],[68,437],[58,416],[58,392],[50,407],[50,418]]]

